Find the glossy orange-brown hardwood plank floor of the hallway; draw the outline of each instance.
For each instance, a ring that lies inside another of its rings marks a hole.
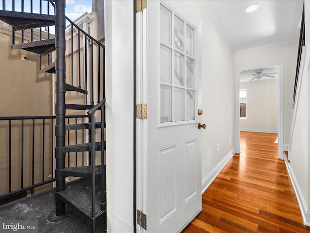
[[[202,212],[182,233],[309,233],[276,140],[241,132],[241,153],[203,193]]]

